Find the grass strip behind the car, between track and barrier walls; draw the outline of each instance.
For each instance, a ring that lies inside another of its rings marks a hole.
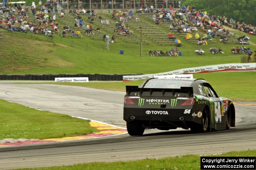
[[[202,78],[208,81],[217,94],[236,101],[256,101],[256,72],[218,72],[194,74],[194,78]],[[144,80],[127,82],[46,82],[46,83],[15,83],[15,84],[58,84],[75,85],[91,88],[101,88],[106,90],[125,91],[126,85],[140,85]]]

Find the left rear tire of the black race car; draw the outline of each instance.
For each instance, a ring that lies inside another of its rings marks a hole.
[[[139,136],[144,133],[145,128],[138,121],[126,122],[127,132],[131,136]]]

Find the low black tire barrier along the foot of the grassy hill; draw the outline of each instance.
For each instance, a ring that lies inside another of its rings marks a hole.
[[[88,77],[89,81],[122,81],[130,74],[0,74],[0,80],[54,80],[57,77]],[[133,74],[142,75],[142,74]]]

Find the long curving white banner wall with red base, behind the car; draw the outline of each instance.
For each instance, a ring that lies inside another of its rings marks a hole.
[[[128,80],[140,80],[153,77],[160,77],[165,75],[177,75],[177,74],[195,74],[195,73],[211,73],[219,71],[256,71],[256,63],[235,63],[235,64],[218,64],[201,67],[192,67],[179,70],[173,70],[164,73],[156,74],[144,74],[138,76],[123,76],[123,81]]]

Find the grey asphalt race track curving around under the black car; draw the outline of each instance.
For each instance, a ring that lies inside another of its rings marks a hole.
[[[1,99],[125,127],[122,119],[123,96],[123,92],[93,88],[15,85],[10,84],[10,81],[0,81]],[[145,135],[136,137],[125,134],[99,139],[0,148],[0,169],[137,160],[184,154],[221,154],[227,151],[256,149],[256,106],[236,105],[235,109],[236,127],[229,130],[210,133],[146,130]]]

